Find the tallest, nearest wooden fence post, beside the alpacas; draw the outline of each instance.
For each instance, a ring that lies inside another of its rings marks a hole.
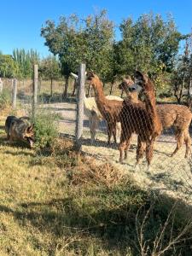
[[[81,137],[84,125],[84,83],[85,83],[85,64],[79,67],[79,86],[77,93],[77,121],[75,129],[75,148],[81,150]]]

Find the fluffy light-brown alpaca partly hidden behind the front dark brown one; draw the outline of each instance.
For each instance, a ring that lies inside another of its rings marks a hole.
[[[119,90],[125,90],[128,99],[131,102],[140,102],[136,91],[129,90],[131,84],[134,84],[131,78],[124,79],[119,84]],[[160,121],[163,129],[174,127],[175,138],[177,140],[177,147],[175,148],[172,156],[177,153],[178,149],[182,147],[183,143],[186,145],[185,158],[189,156],[191,139],[189,135],[189,125],[192,119],[192,113],[186,106],[175,104],[157,104],[157,113],[160,116]]]

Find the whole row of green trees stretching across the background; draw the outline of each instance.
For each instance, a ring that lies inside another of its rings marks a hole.
[[[62,16],[60,20],[47,20],[41,29],[48,57],[40,59],[31,49],[15,49],[13,55],[0,53],[0,76],[31,78],[33,64],[38,63],[40,76],[51,81],[64,76],[63,97],[67,97],[71,72],[77,73],[80,62],[88,70],[99,74],[103,83],[113,84],[122,76],[133,75],[136,69],[148,73],[156,89],[162,93],[174,91],[181,102],[183,91],[191,91],[192,38],[182,35],[171,15],[141,15],[136,21],[130,17],[119,25],[120,40],[115,41],[115,26],[107,11],[88,15]],[[180,43],[184,49],[180,49]]]

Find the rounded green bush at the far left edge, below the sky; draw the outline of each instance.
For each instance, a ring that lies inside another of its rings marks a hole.
[[[0,77],[17,78],[20,69],[11,55],[0,55]]]

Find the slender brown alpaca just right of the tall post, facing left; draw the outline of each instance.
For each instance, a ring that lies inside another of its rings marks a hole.
[[[123,101],[108,100],[102,90],[102,81],[95,73],[87,73],[87,82],[92,85],[96,95],[96,105],[107,122],[108,144],[113,134],[114,142],[116,140],[116,124],[119,122],[119,112],[123,108]]]

